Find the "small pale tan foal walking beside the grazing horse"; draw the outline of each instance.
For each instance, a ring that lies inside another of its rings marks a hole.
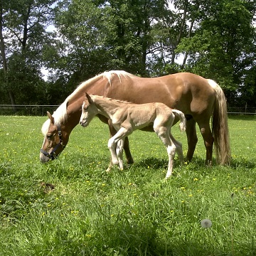
[[[152,125],[154,132],[166,146],[169,156],[166,178],[171,176],[176,149],[180,161],[183,161],[182,145],[171,135],[171,126],[175,117],[181,120],[179,124],[181,131],[185,131],[186,118],[183,112],[171,110],[160,102],[134,104],[97,95],[88,95],[85,92],[85,101],[82,104],[82,115],[80,117],[82,127],[87,127],[97,114],[102,114],[110,119],[114,129],[117,130],[117,134],[110,138],[107,146],[111,152],[112,164],[119,164],[120,169],[123,169],[124,138],[136,129],[144,129]],[[107,171],[110,171],[110,168],[111,166]]]

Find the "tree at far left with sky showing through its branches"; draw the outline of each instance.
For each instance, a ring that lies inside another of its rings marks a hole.
[[[36,103],[50,6],[56,0],[10,0],[1,5],[1,56],[11,103]],[[5,49],[6,51],[5,51]],[[21,93],[22,92],[22,93]]]

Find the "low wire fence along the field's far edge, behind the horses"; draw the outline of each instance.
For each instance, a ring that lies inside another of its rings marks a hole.
[[[0,115],[45,116],[59,105],[0,105]],[[228,114],[256,114],[256,107],[228,107]]]

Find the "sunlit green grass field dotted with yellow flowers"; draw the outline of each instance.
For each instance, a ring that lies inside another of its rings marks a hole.
[[[256,117],[229,118],[231,166],[204,166],[198,135],[193,162],[176,159],[168,181],[166,150],[149,132],[130,137],[135,163],[107,174],[98,119],[41,164],[45,120],[0,117],[0,255],[256,255]]]

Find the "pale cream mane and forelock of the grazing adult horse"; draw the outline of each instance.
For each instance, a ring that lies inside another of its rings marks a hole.
[[[105,71],[104,73],[101,73],[100,75],[96,75],[95,77],[90,78],[89,80],[86,80],[86,81],[80,83],[80,85],[78,85],[78,87],[65,99],[65,101],[53,113],[55,125],[58,126],[58,125],[62,124],[63,122],[65,122],[65,119],[68,117],[67,102],[73,100],[81,92],[84,92],[85,88],[88,85],[90,85],[92,82],[99,80],[100,78],[106,78],[108,80],[108,82],[110,82],[110,86],[111,86],[111,82],[114,78],[114,75],[117,75],[120,82],[121,82],[122,78],[136,77],[135,75],[127,73],[123,70],[112,70],[112,71]],[[41,131],[44,135],[46,135],[46,132],[48,132],[49,125],[50,125],[50,119],[47,119],[41,129]]]

